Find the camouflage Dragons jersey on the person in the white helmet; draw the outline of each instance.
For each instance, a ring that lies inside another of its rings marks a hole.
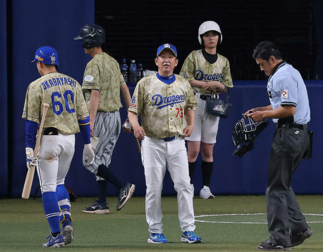
[[[191,52],[183,63],[183,67],[179,73],[187,81],[198,80],[202,82],[218,81],[222,84],[233,87],[230,64],[226,57],[218,54],[215,63],[210,64],[206,61],[202,54],[202,50]],[[194,92],[202,94],[211,94],[211,90],[202,87],[192,86]]]

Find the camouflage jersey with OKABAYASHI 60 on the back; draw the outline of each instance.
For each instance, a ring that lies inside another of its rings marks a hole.
[[[64,135],[78,133],[78,120],[88,116],[81,85],[64,74],[49,73],[29,84],[22,118],[40,123],[44,103],[49,104],[44,129],[54,127]]]

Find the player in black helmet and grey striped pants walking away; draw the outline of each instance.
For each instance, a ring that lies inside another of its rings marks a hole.
[[[120,90],[128,109],[131,101],[129,88],[117,61],[102,51],[101,45],[105,42],[105,32],[100,25],[85,25],[81,28],[80,36],[74,39],[81,40],[85,53],[92,57],[85,68],[82,89],[85,92],[90,114],[91,137],[98,138],[94,149],[95,160],[85,168],[95,174],[99,184],[99,198],[93,205],[84,207],[83,212],[109,213],[106,202],[108,181],[119,190],[119,201],[116,207],[119,211],[133,194],[135,185],[120,181],[108,169],[108,165],[121,131]]]

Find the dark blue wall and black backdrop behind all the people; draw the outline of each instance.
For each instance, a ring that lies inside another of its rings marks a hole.
[[[156,70],[157,47],[171,43],[178,49],[179,73],[186,56],[201,48],[199,25],[206,20],[219,23],[223,44],[219,52],[231,64],[234,85],[230,116],[221,120],[214,149],[215,168],[211,190],[215,194],[264,194],[267,162],[274,126],[270,123],[256,139],[254,149],[243,158],[233,157],[236,149],[232,128],[247,109],[268,104],[266,78],[251,58],[254,46],[262,40],[275,42],[287,62],[298,69],[307,84],[313,130],[313,158],[304,160],[295,173],[297,194],[322,194],[322,96],[323,96],[323,2],[321,0],[6,0],[0,1],[0,196],[20,197],[27,173],[25,163],[25,122],[21,119],[28,84],[39,78],[31,63],[36,49],[49,45],[59,54],[59,71],[82,82],[90,60],[80,41],[74,41],[80,28],[98,23],[106,30],[104,51],[119,63],[123,58]],[[129,84],[130,91],[134,89]],[[125,108],[120,110],[126,119]],[[66,185],[78,196],[96,196],[94,175],[82,167],[82,141],[76,136],[76,151]],[[198,159],[201,162],[201,158]],[[136,184],[135,195],[145,195],[144,169],[133,135],[121,132],[109,166],[117,176]],[[31,195],[36,193],[34,177]],[[196,171],[194,184],[201,185]],[[109,195],[116,195],[113,186]],[[166,173],[164,195],[175,195]]]

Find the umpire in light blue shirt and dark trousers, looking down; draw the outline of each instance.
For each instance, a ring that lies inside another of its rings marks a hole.
[[[269,77],[267,91],[270,105],[246,112],[254,121],[272,118],[276,125],[268,165],[266,188],[267,221],[270,237],[257,246],[260,251],[290,251],[313,232],[306,223],[291,179],[310,146],[307,123],[309,99],[300,73],[286,61],[275,44],[259,43],[252,54]]]

